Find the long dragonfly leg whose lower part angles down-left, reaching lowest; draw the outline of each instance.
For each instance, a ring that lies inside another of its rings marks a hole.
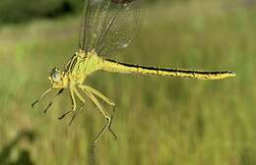
[[[109,116],[107,112],[105,112],[103,106],[99,103],[99,101],[96,99],[95,95],[91,91],[89,91],[87,88],[84,88],[83,91],[85,91],[86,94],[90,97],[90,99],[96,104],[96,107],[98,108],[98,110],[102,113],[104,118],[107,120],[106,125],[102,128],[102,130],[96,136],[94,143],[96,143],[97,140],[104,134],[106,129],[108,129],[109,132],[112,134],[112,136],[116,139],[114,132],[109,128],[112,118]]]

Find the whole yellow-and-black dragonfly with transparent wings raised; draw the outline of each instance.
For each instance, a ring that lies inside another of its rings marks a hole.
[[[140,4],[140,0],[85,0],[78,49],[63,70],[58,68],[51,70],[48,76],[50,87],[32,103],[32,107],[55,90],[57,93],[45,108],[44,113],[46,113],[57,96],[67,89],[71,97],[72,108],[59,119],[63,119],[68,114],[73,114],[71,118],[71,121],[73,121],[77,112],[86,105],[85,96],[88,96],[106,120],[102,130],[95,138],[94,142],[96,143],[107,130],[113,138],[117,138],[111,129],[116,105],[96,88],[87,85],[86,81],[93,73],[103,71],[198,80],[223,80],[235,77],[235,73],[230,71],[148,67],[107,58],[111,52],[127,47],[134,39],[138,27],[140,27]],[[113,108],[112,113],[106,111],[99,100],[111,106]],[[82,103],[79,108],[77,107],[77,101]]]

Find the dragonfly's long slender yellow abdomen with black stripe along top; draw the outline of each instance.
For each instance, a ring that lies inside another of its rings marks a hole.
[[[199,80],[222,80],[225,78],[234,77],[235,74],[229,71],[191,71],[183,69],[146,67],[140,65],[120,63],[113,60],[105,60],[103,64],[103,71],[124,74],[138,74],[138,75],[157,75],[169,76],[175,78],[190,78]]]

